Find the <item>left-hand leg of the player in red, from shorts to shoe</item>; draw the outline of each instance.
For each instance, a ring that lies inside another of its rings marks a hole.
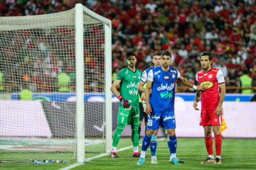
[[[209,164],[214,162],[213,157],[213,138],[212,138],[212,126],[211,126],[211,115],[208,111],[201,111],[200,125],[203,126],[206,150],[208,157],[201,164]]]

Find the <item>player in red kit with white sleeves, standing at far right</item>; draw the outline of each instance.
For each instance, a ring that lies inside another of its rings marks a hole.
[[[201,53],[202,70],[196,74],[196,81],[200,86],[205,86],[206,91],[197,91],[193,107],[198,109],[198,101],[201,98],[201,118],[200,125],[205,132],[206,149],[208,158],[201,164],[221,164],[221,135],[220,125],[222,125],[222,104],[225,98],[225,79],[219,69],[212,68],[210,52]],[[216,159],[213,157],[212,129],[215,135]]]

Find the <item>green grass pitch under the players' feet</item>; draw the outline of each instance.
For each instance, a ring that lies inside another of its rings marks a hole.
[[[215,153],[214,142],[213,139],[213,151]],[[130,145],[132,145],[130,138],[122,138],[117,149]],[[256,169],[255,139],[224,139],[221,154],[222,164],[200,164],[207,157],[203,138],[178,138],[177,157],[185,162],[181,165],[169,163],[169,148],[166,139],[159,141],[157,145],[156,156],[159,164],[151,164],[151,154],[150,149],[148,149],[144,165],[138,166],[139,158],[133,158],[132,152],[132,148],[118,152],[118,159],[110,159],[108,156],[92,159],[74,169]],[[86,154],[86,157],[96,155]],[[43,165],[0,163],[0,169],[61,169],[74,163]]]

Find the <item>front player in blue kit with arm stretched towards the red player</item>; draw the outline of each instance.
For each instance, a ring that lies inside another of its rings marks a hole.
[[[161,53],[161,66],[151,69],[146,81],[146,113],[149,114],[149,120],[146,135],[142,141],[142,152],[138,165],[144,164],[146,149],[149,147],[151,135],[154,130],[159,129],[159,122],[163,119],[164,128],[168,132],[171,150],[170,161],[172,164],[180,164],[176,159],[176,120],[174,115],[174,98],[176,79],[179,79],[186,86],[192,87],[197,91],[204,91],[203,86],[195,86],[181,77],[177,69],[170,67],[171,53],[164,51]],[[151,94],[150,94],[151,90]],[[151,103],[149,103],[151,95]]]

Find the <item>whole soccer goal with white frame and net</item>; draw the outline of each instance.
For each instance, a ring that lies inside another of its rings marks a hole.
[[[0,162],[110,151],[111,44],[111,21],[82,4],[0,18]]]

